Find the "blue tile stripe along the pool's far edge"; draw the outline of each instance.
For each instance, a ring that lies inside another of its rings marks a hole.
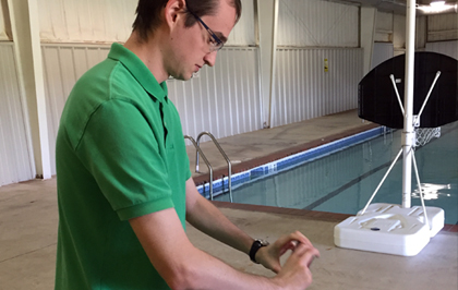
[[[234,190],[236,188],[242,185],[243,183],[248,181],[258,179],[260,177],[270,176],[281,170],[290,169],[292,167],[303,165],[305,162],[324,157],[326,155],[342,150],[345,148],[360,144],[367,140],[375,138],[386,133],[388,130],[389,129],[387,128],[378,126],[375,129],[371,129],[371,130],[358,133],[355,135],[351,135],[345,138],[340,138],[340,140],[324,144],[322,146],[318,146],[318,147],[315,147],[305,152],[301,152],[301,153],[285,157],[282,159],[279,159],[279,160],[266,164],[266,165],[255,167],[253,169],[250,169],[240,173],[236,173],[231,178],[232,190]],[[213,182],[214,196],[228,192],[228,188],[229,188],[228,183],[229,183],[228,177],[225,177],[224,179],[215,180]],[[197,191],[203,196],[208,198],[209,197],[209,183],[198,185]]]

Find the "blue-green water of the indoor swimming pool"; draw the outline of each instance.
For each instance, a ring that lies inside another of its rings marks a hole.
[[[442,126],[439,138],[417,148],[425,205],[445,210],[445,223],[458,223],[458,122]],[[400,149],[400,131],[381,135],[323,158],[252,177],[232,191],[233,202],[354,215],[362,209]],[[401,204],[398,160],[373,203]],[[420,205],[412,176],[412,205]],[[215,197],[228,201],[228,194]]]

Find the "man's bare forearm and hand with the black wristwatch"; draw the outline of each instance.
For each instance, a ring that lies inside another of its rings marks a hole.
[[[233,225],[210,202],[203,197],[190,178],[186,181],[186,220],[196,229],[249,254],[254,239]],[[297,243],[313,249],[312,243],[299,231],[284,235],[275,243],[261,247],[256,253],[256,261],[275,273],[281,269],[280,256],[288,250],[293,250]]]

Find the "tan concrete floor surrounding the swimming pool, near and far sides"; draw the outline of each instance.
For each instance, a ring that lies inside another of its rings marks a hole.
[[[250,161],[256,158],[309,142],[303,137],[327,138],[335,132],[362,125],[354,111],[320,119],[224,138],[221,146],[231,159],[239,159],[250,167]],[[332,120],[321,122],[326,119]],[[233,147],[226,145],[230,142],[233,142]],[[243,149],[252,148],[252,143],[258,144],[257,149]],[[224,165],[222,160],[219,167],[224,168]],[[238,209],[237,205],[231,206],[236,208],[227,208],[221,203],[217,205],[229,219],[255,238],[274,241],[284,233],[302,231],[322,253],[322,257],[313,263],[314,282],[310,289],[458,289],[456,232],[442,231],[417,256],[401,257],[336,247],[333,229],[338,220]],[[53,288],[57,226],[55,178],[0,188],[1,290]],[[251,263],[246,255],[212,240],[191,226],[188,234],[197,247],[238,269],[273,275]]]

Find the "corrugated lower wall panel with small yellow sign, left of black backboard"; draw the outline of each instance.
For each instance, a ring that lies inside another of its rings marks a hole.
[[[273,126],[357,108],[362,62],[360,48],[278,49]]]

